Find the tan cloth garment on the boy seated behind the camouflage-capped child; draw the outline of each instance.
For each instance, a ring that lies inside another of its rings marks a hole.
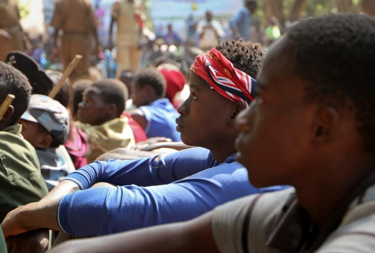
[[[135,145],[133,131],[127,117],[115,118],[101,125],[76,122],[79,129],[87,134],[90,150],[88,163],[116,148],[131,148]]]

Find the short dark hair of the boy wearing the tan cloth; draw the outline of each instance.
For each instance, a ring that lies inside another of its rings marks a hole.
[[[94,82],[91,87],[100,91],[105,103],[117,106],[118,117],[120,117],[125,110],[126,100],[128,100],[128,89],[126,89],[124,83],[118,79],[103,79]]]

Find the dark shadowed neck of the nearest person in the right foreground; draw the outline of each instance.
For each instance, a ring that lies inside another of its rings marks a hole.
[[[331,219],[335,208],[373,170],[372,165],[358,162],[336,165],[329,170],[329,163],[326,161],[325,165],[321,165],[325,168],[324,174],[306,174],[304,179],[299,178],[298,182],[292,183],[299,204],[320,228]]]

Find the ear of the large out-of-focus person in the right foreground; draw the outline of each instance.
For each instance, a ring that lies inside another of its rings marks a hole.
[[[339,113],[332,106],[318,111],[312,124],[313,144],[325,144],[336,137],[339,126]]]

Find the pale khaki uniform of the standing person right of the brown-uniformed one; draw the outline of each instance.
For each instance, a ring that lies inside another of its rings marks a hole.
[[[139,24],[135,15],[142,17],[140,0],[129,2],[121,0],[112,6],[111,16],[117,21],[117,74],[119,78],[121,71],[139,68],[141,50],[139,44]]]

